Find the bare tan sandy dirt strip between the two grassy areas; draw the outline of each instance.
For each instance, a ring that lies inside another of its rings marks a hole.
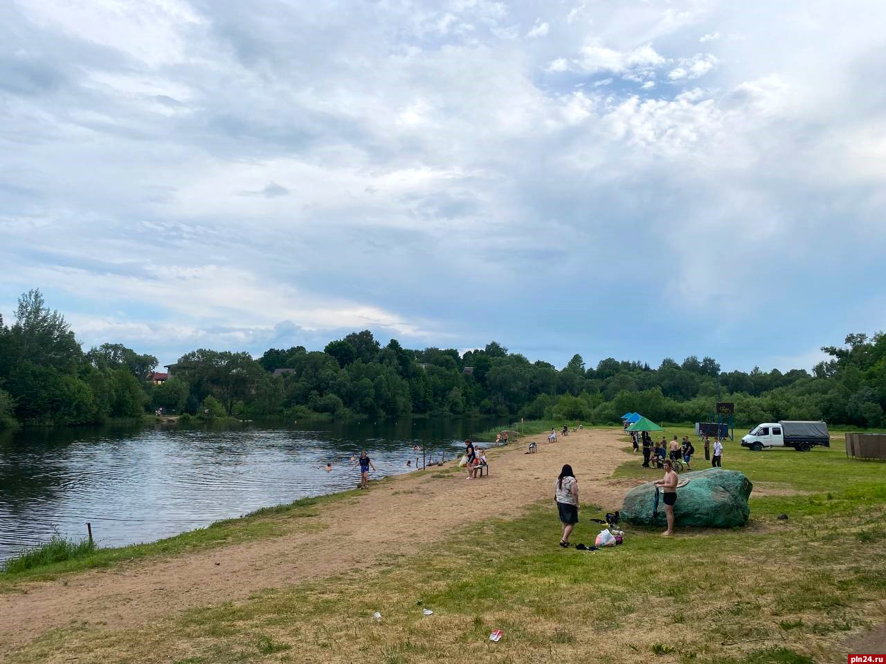
[[[74,622],[110,628],[141,624],[192,606],[242,599],[263,588],[370,567],[391,554],[416,552],[420,544],[441,540],[457,529],[464,521],[462,506],[479,505],[486,514],[516,516],[526,506],[552,498],[554,480],[564,463],[571,464],[579,478],[582,502],[618,508],[625,491],[637,483],[607,479],[631,457],[619,449],[625,446],[619,435],[616,430],[584,429],[555,444],[548,444],[547,436],[532,436],[522,444],[490,452],[488,477],[466,480],[460,473],[432,478],[429,468],[323,506],[323,513],[311,520],[323,524],[321,531],[292,532],[31,584],[26,594],[0,596],[0,655],[48,629]],[[538,442],[538,453],[524,453],[529,440]],[[556,543],[554,516],[550,535]]]

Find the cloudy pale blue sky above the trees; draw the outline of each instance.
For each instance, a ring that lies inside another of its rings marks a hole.
[[[0,313],[810,368],[886,328],[882,0],[7,0]]]

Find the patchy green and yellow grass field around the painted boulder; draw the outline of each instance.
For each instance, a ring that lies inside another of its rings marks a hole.
[[[666,432],[674,433],[682,430]],[[144,629],[58,630],[10,661],[845,661],[843,639],[886,619],[886,464],[846,459],[838,447],[757,453],[737,443],[727,444],[723,461],[758,490],[746,529],[670,540],[628,529],[624,546],[585,553],[552,544],[556,515],[540,505],[358,575],[261,592]],[[616,476],[644,473],[660,475],[638,458]],[[593,499],[593,488],[584,495]],[[574,542],[593,540],[587,518],[601,512],[583,506]],[[777,519],[781,513],[789,519]],[[493,629],[504,631],[498,644],[488,641]]]

